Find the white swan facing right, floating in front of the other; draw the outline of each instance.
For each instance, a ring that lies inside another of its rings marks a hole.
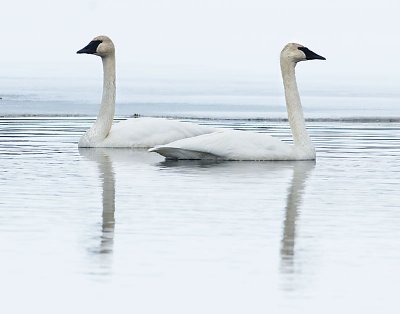
[[[305,127],[295,76],[295,67],[298,62],[313,59],[326,60],[296,43],[287,44],[280,55],[293,145],[266,133],[221,130],[157,145],[149,151],[157,152],[168,159],[314,160],[315,148]]]

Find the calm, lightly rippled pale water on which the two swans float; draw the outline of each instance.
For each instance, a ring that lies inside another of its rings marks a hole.
[[[316,163],[78,149],[91,123],[0,119],[4,313],[398,313],[399,123],[308,123]]]

